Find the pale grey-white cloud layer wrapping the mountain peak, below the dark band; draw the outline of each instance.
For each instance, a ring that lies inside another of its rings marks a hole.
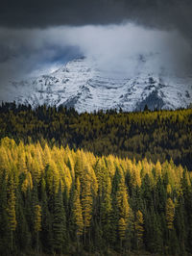
[[[134,23],[0,28],[0,87],[9,81],[49,73],[69,60],[92,58],[100,68],[132,73],[140,54],[157,54],[149,70],[170,73],[191,66],[192,49],[177,30],[147,29]],[[191,67],[190,67],[191,68]],[[107,70],[107,71],[108,71]]]

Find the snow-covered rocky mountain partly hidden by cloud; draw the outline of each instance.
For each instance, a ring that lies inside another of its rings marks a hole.
[[[122,108],[124,111],[150,108],[176,109],[192,101],[192,75],[168,75],[149,67],[153,56],[137,58],[133,75],[114,72],[85,58],[71,61],[51,74],[12,82],[10,94],[16,103],[65,105],[78,112]]]

